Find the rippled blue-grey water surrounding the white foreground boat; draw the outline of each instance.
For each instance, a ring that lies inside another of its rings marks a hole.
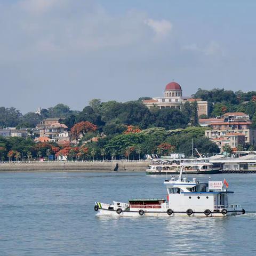
[[[256,255],[256,174],[211,176],[228,180],[229,203],[242,204],[245,215],[96,217],[94,201],[165,198],[165,176],[0,173],[0,255]]]

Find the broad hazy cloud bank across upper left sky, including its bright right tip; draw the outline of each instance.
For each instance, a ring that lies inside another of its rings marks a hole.
[[[92,0],[20,0],[6,4],[3,13],[2,60],[149,44],[150,39],[162,40],[172,29],[169,21],[149,19],[143,12],[110,15]]]

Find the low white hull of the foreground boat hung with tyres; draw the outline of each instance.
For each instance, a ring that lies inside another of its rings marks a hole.
[[[139,214],[139,211],[122,211],[117,213],[115,210],[108,209],[99,209],[97,215],[110,215],[116,217],[227,217],[231,215],[241,215],[243,210],[228,211],[226,214],[221,212],[211,212],[208,216],[204,212],[194,212],[191,215],[188,215],[186,212],[173,212],[171,215],[168,215],[166,211],[145,211],[143,215]]]

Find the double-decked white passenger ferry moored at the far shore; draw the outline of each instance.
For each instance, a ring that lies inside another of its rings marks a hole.
[[[209,158],[180,158],[180,159],[153,159],[146,174],[177,174],[181,167],[190,174],[218,173],[220,167],[214,167]]]

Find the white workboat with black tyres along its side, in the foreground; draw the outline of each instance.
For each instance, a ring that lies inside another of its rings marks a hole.
[[[182,168],[179,178],[165,180],[167,201],[165,199],[130,199],[128,203],[113,202],[105,204],[95,202],[94,211],[98,215],[115,215],[121,217],[136,216],[198,216],[225,217],[244,214],[241,205],[228,204],[228,183],[210,181],[200,183],[193,179],[182,178]],[[226,185],[225,185],[226,184]],[[224,189],[224,186],[226,188]]]

